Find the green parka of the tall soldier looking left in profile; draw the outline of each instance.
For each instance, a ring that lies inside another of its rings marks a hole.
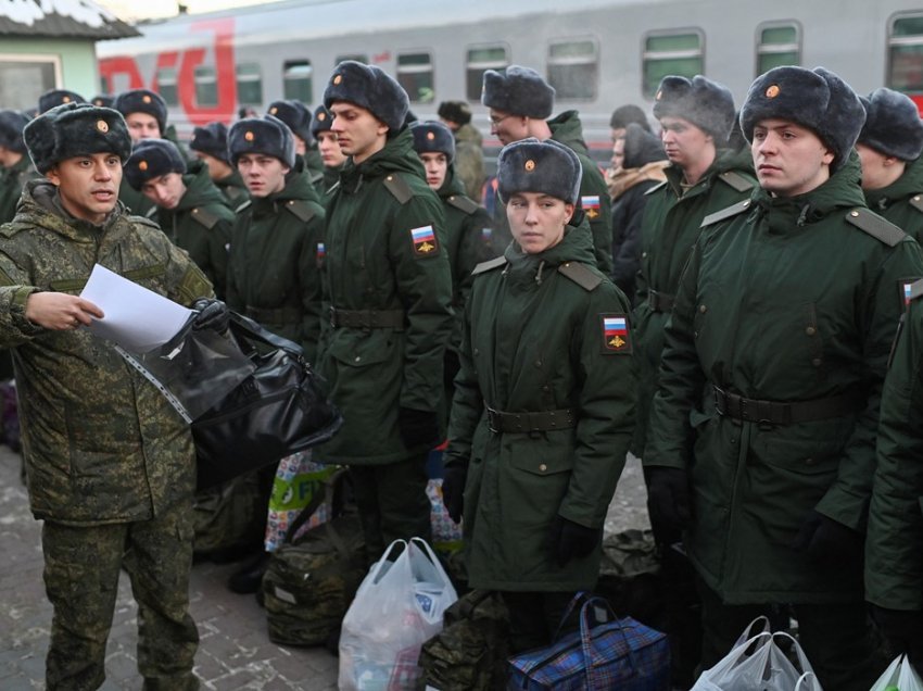
[[[404,447],[397,411],[434,412],[443,395],[453,325],[445,243],[442,204],[408,128],[358,165],[345,163],[327,205],[325,297],[336,311],[383,313],[401,326],[325,335],[320,374],[345,420],[318,449],[325,462],[382,465],[427,451]]]

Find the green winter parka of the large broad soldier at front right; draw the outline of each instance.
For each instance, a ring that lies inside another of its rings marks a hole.
[[[724,602],[861,598],[861,574],[810,565],[793,542],[812,511],[865,529],[902,285],[921,275],[916,242],[864,206],[855,154],[805,194],[758,189],[695,243],[666,328],[644,465],[690,473],[686,549]],[[847,397],[854,412],[742,422],[719,415],[712,385],[782,403]]]

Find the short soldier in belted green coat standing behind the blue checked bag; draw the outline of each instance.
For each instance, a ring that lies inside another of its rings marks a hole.
[[[634,422],[629,304],[595,267],[580,176],[556,141],[503,149],[514,242],[475,269],[465,307],[443,495],[469,585],[509,605],[514,651],[551,643],[595,586]]]

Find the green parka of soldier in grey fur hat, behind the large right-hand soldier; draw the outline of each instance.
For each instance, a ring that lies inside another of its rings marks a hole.
[[[701,231],[703,219],[749,198],[756,187],[749,150],[720,151],[701,179],[685,191],[681,168],[671,165],[663,172],[667,180],[647,192],[641,225],[641,269],[634,309],[640,375],[637,424],[632,440],[632,453],[636,456],[643,453],[647,438],[647,418],[657,392],[663,352],[663,327],[670,317],[669,304],[654,309],[650,292],[672,300],[686,257]]]

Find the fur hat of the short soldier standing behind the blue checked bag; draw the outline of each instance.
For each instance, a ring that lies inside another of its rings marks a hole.
[[[497,192],[504,203],[516,192],[542,192],[570,204],[580,199],[580,159],[554,139],[514,141],[501,150],[496,165]]]

